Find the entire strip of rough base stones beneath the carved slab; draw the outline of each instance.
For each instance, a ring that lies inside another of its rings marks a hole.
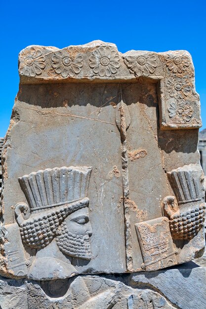
[[[123,275],[79,275],[26,281],[0,277],[2,309],[206,308],[206,270],[193,262],[177,268]]]

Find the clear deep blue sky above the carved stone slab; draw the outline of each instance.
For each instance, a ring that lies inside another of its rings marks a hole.
[[[206,127],[206,0],[8,0],[0,5],[0,136],[18,91],[18,53],[28,45],[63,48],[94,39],[130,49],[188,50]]]

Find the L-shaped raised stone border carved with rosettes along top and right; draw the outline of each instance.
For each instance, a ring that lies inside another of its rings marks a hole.
[[[184,50],[122,54],[115,44],[99,40],[63,49],[32,45],[19,54],[19,75],[22,84],[150,78],[157,83],[161,129],[201,127],[194,68]]]

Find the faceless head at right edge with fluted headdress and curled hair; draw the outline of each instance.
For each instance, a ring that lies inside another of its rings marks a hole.
[[[203,171],[198,164],[185,165],[167,173],[177,198],[166,196],[164,214],[169,218],[172,238],[192,239],[204,228],[206,205]]]

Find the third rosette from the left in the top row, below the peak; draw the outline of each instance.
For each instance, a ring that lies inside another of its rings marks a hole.
[[[89,61],[89,67],[93,69],[93,73],[100,77],[110,77],[117,73],[117,69],[120,67],[120,56],[110,46],[101,46],[94,50]]]

